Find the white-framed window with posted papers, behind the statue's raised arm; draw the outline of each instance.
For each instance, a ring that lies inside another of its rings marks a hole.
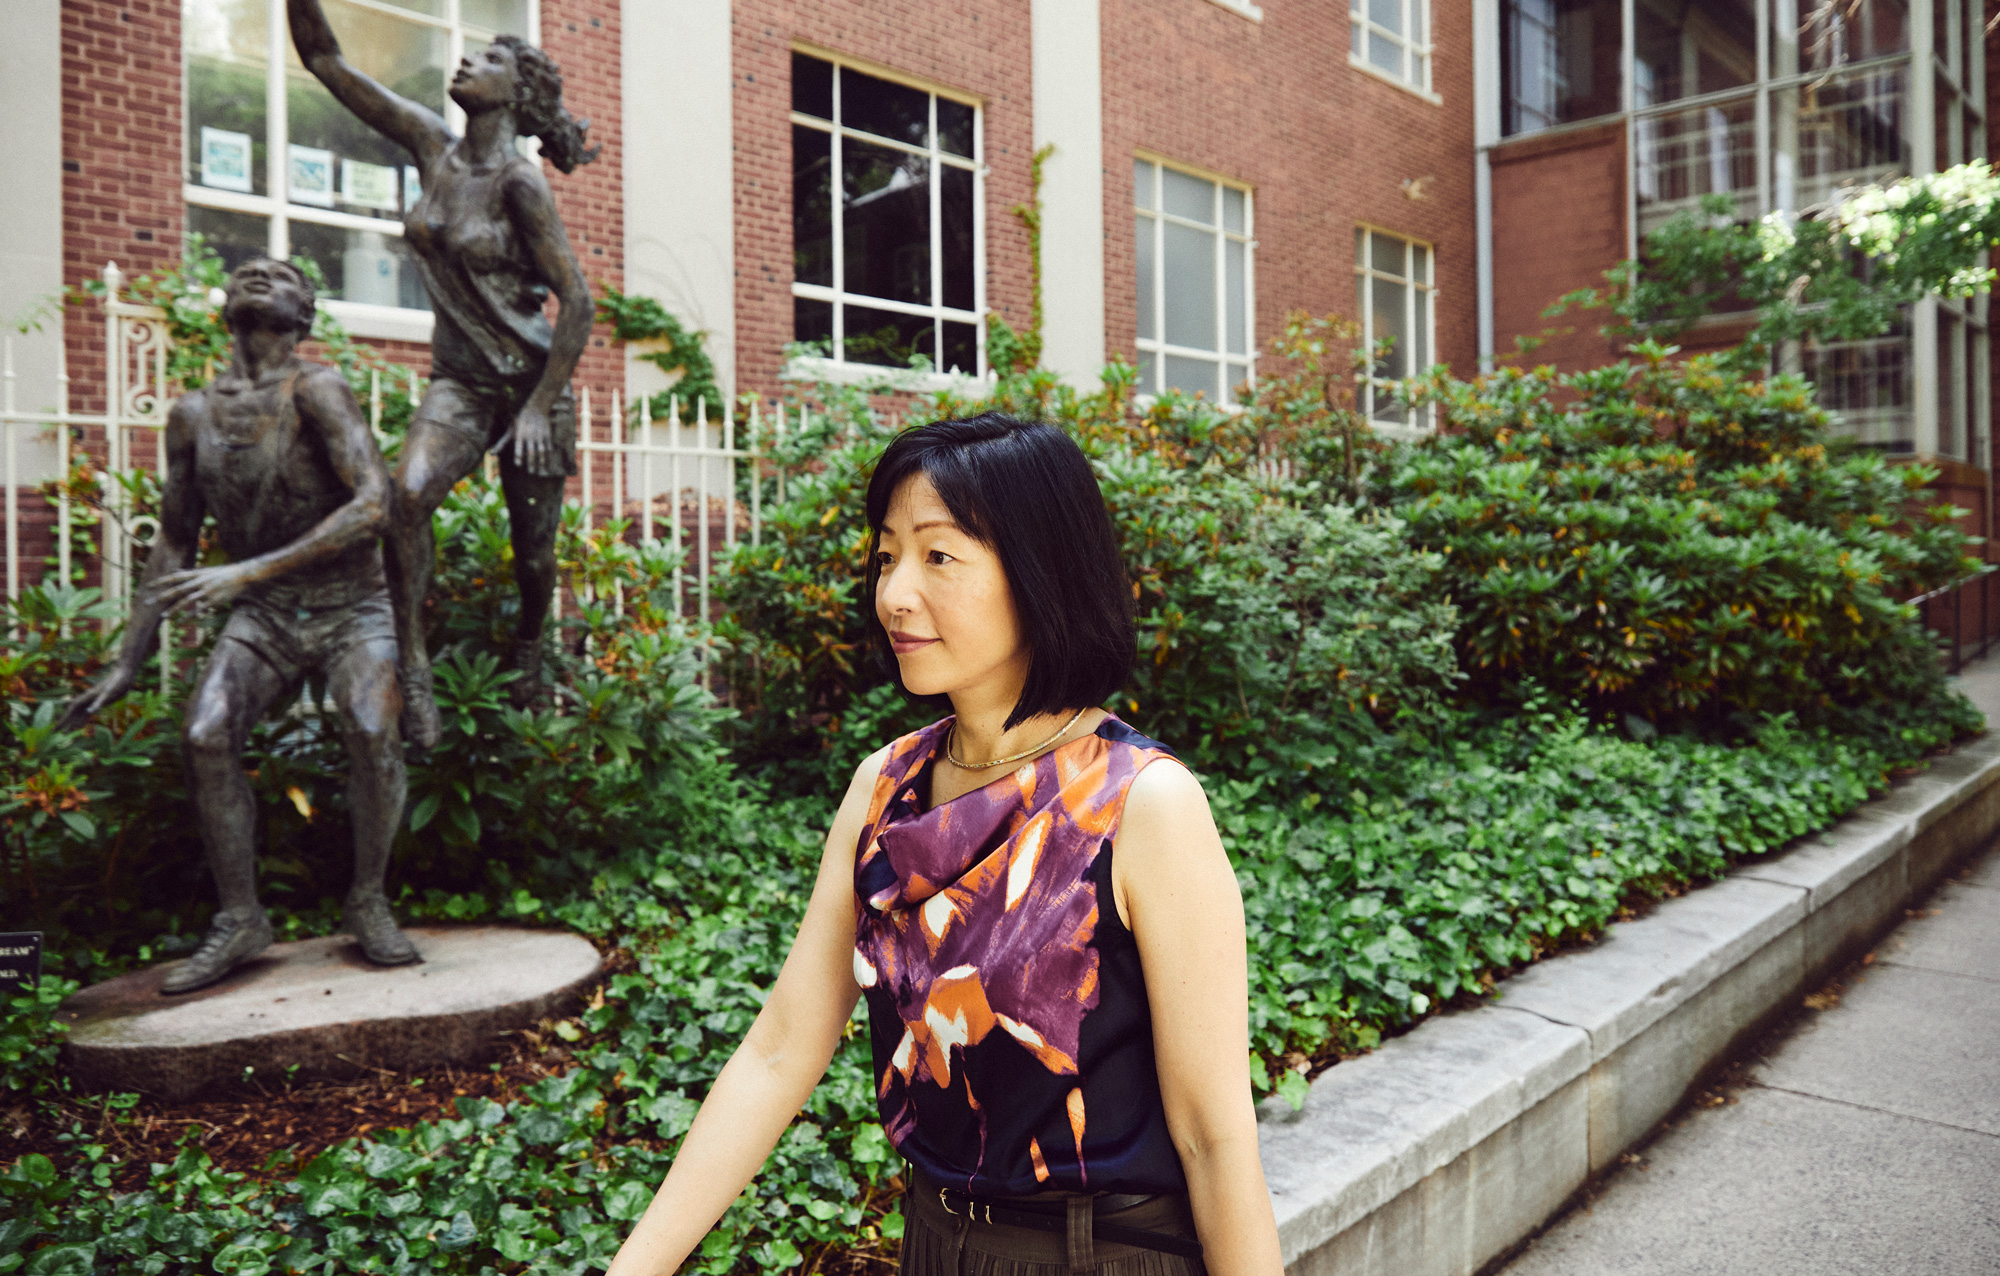
[[[340,50],[456,130],[452,68],[498,34],[534,40],[538,0],[322,0]],[[232,266],[304,256],[328,310],[366,336],[428,338],[402,242],[410,154],[334,100],[292,48],[284,0],[182,0],[186,226]]]

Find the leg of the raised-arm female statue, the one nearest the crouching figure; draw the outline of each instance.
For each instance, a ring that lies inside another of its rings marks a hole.
[[[464,386],[438,378],[430,382],[404,438],[402,460],[396,462],[396,498],[382,562],[396,606],[402,736],[418,748],[436,744],[440,730],[424,634],[424,596],[438,562],[430,516],[444,504],[452,484],[478,468],[488,416],[490,410]]]

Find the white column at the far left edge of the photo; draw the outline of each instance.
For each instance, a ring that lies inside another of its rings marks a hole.
[[[14,336],[14,402],[22,412],[56,408],[62,310],[62,4],[10,0],[0,40],[0,118],[6,120],[6,182],[0,182],[0,322]],[[40,310],[42,332],[12,322]],[[34,426],[20,430],[20,482],[54,478],[56,446]],[[4,448],[0,438],[0,448]],[[4,550],[0,550],[4,552]]]

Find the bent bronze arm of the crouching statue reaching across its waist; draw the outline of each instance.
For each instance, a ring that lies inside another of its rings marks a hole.
[[[352,496],[310,532],[268,554],[162,578],[158,584],[162,606],[224,606],[252,584],[334,558],[354,544],[380,536],[388,526],[388,466],[382,464],[346,378],[332,368],[310,366],[292,392],[300,428],[320,432],[326,458]]]

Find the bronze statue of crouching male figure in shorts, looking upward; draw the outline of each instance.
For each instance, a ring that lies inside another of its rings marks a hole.
[[[64,714],[64,726],[82,726],[132,690],[170,612],[230,608],[184,732],[220,910],[162,992],[208,986],[272,942],[256,896],[256,798],[240,754],[258,718],[306,674],[326,676],[350,758],[346,930],[372,962],[418,960],[384,894],[404,802],[396,622],[382,574],[390,478],[340,372],[298,358],[312,306],[312,284],[284,262],[256,258],[230,274],[230,368],[168,416],[160,534],[124,646]],[[196,568],[208,514],[230,562]]]

